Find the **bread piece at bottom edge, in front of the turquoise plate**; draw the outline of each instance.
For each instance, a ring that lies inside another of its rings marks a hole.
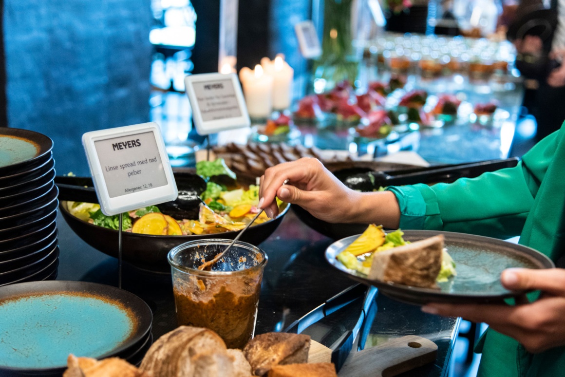
[[[89,357],[69,355],[63,377],[150,377],[127,361],[111,357],[97,361]]]

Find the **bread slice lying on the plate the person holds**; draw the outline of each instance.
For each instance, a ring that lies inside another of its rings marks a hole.
[[[373,255],[368,278],[412,287],[436,288],[443,249],[444,236],[438,235],[377,252]]]

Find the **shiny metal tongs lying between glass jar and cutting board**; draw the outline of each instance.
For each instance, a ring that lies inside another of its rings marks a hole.
[[[341,309],[342,307],[351,304],[352,302],[358,301],[363,298],[363,307],[361,309],[361,313],[359,314],[359,318],[355,326],[351,328],[351,330],[347,330],[340,338],[335,341],[329,349],[332,350],[332,362],[336,366],[336,371],[339,371],[341,367],[344,365],[347,356],[353,349],[354,341],[359,334],[359,331],[364,326],[364,322],[367,317],[371,317],[371,314],[374,310],[371,309],[373,307],[373,302],[375,301],[375,297],[378,293],[377,288],[375,287],[367,287],[363,284],[355,284],[351,287],[345,289],[344,291],[336,294],[329,300],[325,301],[320,306],[316,307],[314,310],[311,310],[309,313],[304,315],[302,318],[295,320],[289,327],[287,327],[284,332],[292,332],[292,333],[301,333],[304,331],[308,326],[318,322],[320,319],[327,317],[328,315],[334,313],[335,311]],[[370,310],[371,309],[371,310]],[[366,331],[363,331],[364,335],[359,341],[360,348],[363,348],[366,340]]]

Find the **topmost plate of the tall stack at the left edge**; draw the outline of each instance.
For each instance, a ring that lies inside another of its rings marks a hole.
[[[50,154],[52,148],[53,140],[41,133],[3,127],[0,129],[0,176],[33,166]]]

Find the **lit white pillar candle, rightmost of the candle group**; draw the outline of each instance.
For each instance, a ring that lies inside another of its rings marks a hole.
[[[285,110],[290,107],[294,70],[284,61],[283,55],[275,60],[261,59],[261,65],[267,75],[273,77],[273,108]]]

